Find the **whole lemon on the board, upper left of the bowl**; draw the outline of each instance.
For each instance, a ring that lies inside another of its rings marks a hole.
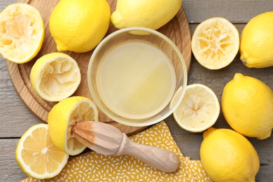
[[[111,11],[106,0],[61,0],[52,10],[49,29],[58,51],[92,50],[109,28]]]

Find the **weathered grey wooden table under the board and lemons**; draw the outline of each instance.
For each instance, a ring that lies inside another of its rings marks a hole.
[[[0,11],[16,0],[1,0]],[[202,1],[184,0],[183,8],[186,11],[190,32],[193,34],[197,25],[212,17],[223,17],[235,24],[239,33],[246,23],[259,13],[273,10],[272,0],[230,0],[230,1]],[[272,50],[273,51],[273,50]],[[0,181],[20,181],[27,177],[15,161],[15,148],[22,134],[32,125],[41,123],[34,114],[22,103],[15,92],[8,76],[6,61],[0,58]],[[273,89],[273,66],[265,69],[248,69],[239,60],[239,54],[229,66],[217,71],[202,67],[193,57],[188,84],[202,83],[211,87],[219,101],[223,87],[232,79],[235,73],[253,76],[262,80]],[[174,118],[167,118],[172,135],[179,145],[183,155],[193,160],[200,160],[199,150],[202,134],[187,132],[176,124]],[[221,113],[214,127],[229,128]],[[260,170],[256,181],[272,181],[273,179],[273,136],[269,139],[249,139],[260,157]]]

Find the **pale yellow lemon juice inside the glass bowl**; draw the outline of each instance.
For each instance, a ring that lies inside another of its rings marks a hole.
[[[144,119],[159,113],[174,94],[172,62],[145,41],[125,42],[107,51],[97,85],[106,106],[120,116]]]

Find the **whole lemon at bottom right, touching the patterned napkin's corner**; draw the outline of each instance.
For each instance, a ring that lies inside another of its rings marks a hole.
[[[234,130],[210,127],[203,138],[200,159],[213,181],[255,181],[260,161],[244,136]]]

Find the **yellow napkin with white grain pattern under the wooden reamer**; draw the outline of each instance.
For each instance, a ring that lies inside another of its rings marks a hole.
[[[130,139],[176,153],[181,162],[179,169],[165,173],[130,155],[102,155],[90,151],[70,157],[58,176],[43,181],[211,181],[200,161],[183,157],[164,121],[132,135]],[[40,180],[28,178],[24,181]]]

